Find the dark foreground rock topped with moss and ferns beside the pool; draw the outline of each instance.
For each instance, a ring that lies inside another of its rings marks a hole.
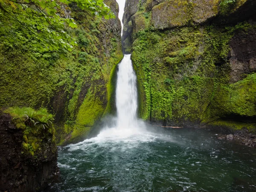
[[[59,173],[54,127],[47,122],[51,114],[32,108],[4,112],[0,111],[0,191],[40,191]]]

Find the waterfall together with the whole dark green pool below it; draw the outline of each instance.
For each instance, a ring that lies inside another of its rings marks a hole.
[[[116,118],[96,137],[58,151],[60,182],[49,191],[256,191],[256,150],[203,129],[150,127],[137,119],[130,55],[119,64]]]

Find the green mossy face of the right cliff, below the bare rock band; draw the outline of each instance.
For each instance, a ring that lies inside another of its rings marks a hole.
[[[241,84],[229,85],[227,59],[233,35],[251,27],[239,23],[230,27],[194,26],[137,32],[132,60],[140,90],[140,117],[179,123],[231,113],[254,116],[254,75]],[[226,105],[227,110],[221,110]],[[223,113],[217,114],[218,111]]]

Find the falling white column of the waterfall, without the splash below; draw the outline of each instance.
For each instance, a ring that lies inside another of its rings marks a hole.
[[[131,55],[125,55],[119,64],[116,85],[117,127],[137,126],[137,87]]]

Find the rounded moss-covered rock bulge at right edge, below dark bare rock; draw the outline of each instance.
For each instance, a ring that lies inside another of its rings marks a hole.
[[[225,116],[256,116],[256,74],[234,84],[217,84],[209,106],[210,118]]]

